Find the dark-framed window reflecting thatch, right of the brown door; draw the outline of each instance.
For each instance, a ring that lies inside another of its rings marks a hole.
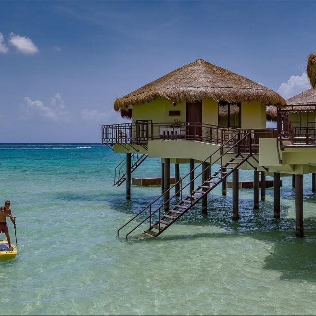
[[[240,102],[218,102],[218,125],[240,127]]]

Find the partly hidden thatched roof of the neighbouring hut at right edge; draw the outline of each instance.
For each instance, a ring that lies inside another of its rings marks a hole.
[[[295,95],[286,100],[287,105],[290,107],[285,107],[285,110],[315,110],[316,105],[316,89],[308,89],[302,93]],[[295,106],[293,108],[293,106]],[[271,121],[276,121],[276,107],[270,106],[267,111],[267,119]]]

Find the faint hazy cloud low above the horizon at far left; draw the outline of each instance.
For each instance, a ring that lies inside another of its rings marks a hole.
[[[64,101],[59,93],[51,98],[50,106],[45,106],[40,100],[33,101],[29,97],[24,98],[21,103],[22,115],[20,119],[27,120],[30,118],[46,118],[50,121],[69,121],[70,114],[65,110]]]

